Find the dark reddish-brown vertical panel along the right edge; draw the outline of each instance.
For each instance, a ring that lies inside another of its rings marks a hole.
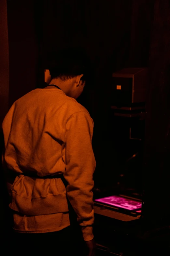
[[[144,216],[170,225],[170,2],[156,0],[151,30]],[[154,212],[154,214],[151,214]]]

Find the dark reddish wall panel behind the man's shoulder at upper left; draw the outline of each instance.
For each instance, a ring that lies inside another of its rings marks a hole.
[[[34,1],[7,0],[9,41],[9,107],[34,90],[38,44]]]

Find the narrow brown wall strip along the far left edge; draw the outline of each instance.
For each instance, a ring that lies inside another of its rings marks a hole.
[[[8,94],[9,94],[9,62],[8,62],[8,31],[7,31],[7,3],[6,0],[1,1],[0,8],[0,126],[8,111]],[[4,138],[0,128],[0,153],[4,144]],[[2,221],[1,230],[9,230],[10,216],[7,211],[7,196],[6,185],[4,184],[4,177],[2,174],[2,163],[0,159],[0,171],[1,171],[1,184],[0,184],[0,202],[1,213],[0,218]],[[8,218],[8,219],[7,219]]]

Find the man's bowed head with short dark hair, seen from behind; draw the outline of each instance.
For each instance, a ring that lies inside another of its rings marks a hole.
[[[89,82],[91,64],[81,49],[69,48],[51,56],[50,85],[59,86],[67,96],[77,99]]]

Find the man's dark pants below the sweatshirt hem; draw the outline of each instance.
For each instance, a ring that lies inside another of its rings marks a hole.
[[[87,255],[79,230],[71,227],[50,233],[13,232],[11,241],[10,251],[16,255]]]

